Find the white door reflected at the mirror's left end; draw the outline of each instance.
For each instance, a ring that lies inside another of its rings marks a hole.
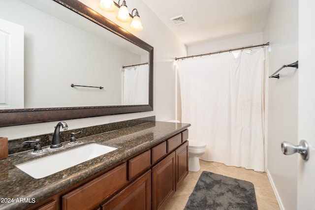
[[[24,108],[24,27],[0,19],[0,109]]]

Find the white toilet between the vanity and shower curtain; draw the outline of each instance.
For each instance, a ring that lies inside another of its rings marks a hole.
[[[206,151],[206,143],[189,140],[189,171],[197,172],[200,170],[199,157]]]

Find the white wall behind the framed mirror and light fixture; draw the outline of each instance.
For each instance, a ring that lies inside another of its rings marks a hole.
[[[97,0],[91,2],[95,3],[94,8],[95,10],[98,10]],[[127,24],[119,24],[154,47],[154,111],[66,120],[69,129],[152,115],[156,115],[157,120],[170,120],[175,118],[175,71],[173,61],[175,57],[187,55],[186,47],[165,25],[162,24],[158,17],[153,14],[142,0],[130,1],[130,4],[128,3],[128,8],[130,12],[132,8],[138,9],[144,30],[132,31]],[[113,17],[111,17],[110,20],[117,22]],[[16,139],[42,133],[52,133],[55,125],[56,122],[47,122],[3,127],[0,128],[0,134],[9,139]]]

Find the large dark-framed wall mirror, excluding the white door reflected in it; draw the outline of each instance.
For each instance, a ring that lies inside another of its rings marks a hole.
[[[0,126],[153,110],[152,46],[78,0],[0,2],[24,27],[24,99]]]

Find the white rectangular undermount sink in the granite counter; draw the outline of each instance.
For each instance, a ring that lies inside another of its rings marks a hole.
[[[113,150],[117,148],[93,143],[22,163],[16,167],[35,179],[41,179]]]

